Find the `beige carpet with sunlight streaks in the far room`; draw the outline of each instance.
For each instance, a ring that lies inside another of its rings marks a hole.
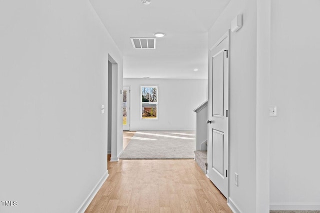
[[[119,159],[194,158],[193,131],[137,131]]]

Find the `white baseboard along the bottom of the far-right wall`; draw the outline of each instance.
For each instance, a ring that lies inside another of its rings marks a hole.
[[[314,204],[314,203],[282,203],[282,204],[276,204],[271,203],[270,204],[270,210],[276,211],[276,210],[296,210],[296,211],[319,211],[320,210],[320,204]]]

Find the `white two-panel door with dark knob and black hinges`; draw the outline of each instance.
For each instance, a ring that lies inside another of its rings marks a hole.
[[[226,33],[209,52],[208,168],[210,181],[227,198],[228,168],[228,47]]]

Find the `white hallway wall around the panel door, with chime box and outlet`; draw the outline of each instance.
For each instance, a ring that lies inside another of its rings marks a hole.
[[[208,47],[243,14],[243,26],[229,46],[229,204],[242,213],[256,212],[256,0],[231,0],[208,33]],[[234,185],[238,174],[238,187]]]

